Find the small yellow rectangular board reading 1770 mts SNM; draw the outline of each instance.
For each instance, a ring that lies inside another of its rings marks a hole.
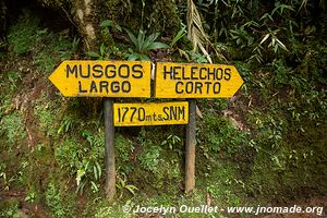
[[[187,124],[189,102],[113,104],[113,125]]]

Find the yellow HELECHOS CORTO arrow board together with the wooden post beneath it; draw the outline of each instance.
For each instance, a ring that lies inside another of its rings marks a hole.
[[[189,98],[190,122],[185,143],[185,192],[195,186],[195,98],[229,98],[242,86],[243,80],[233,65],[171,63],[156,64],[156,98]]]

